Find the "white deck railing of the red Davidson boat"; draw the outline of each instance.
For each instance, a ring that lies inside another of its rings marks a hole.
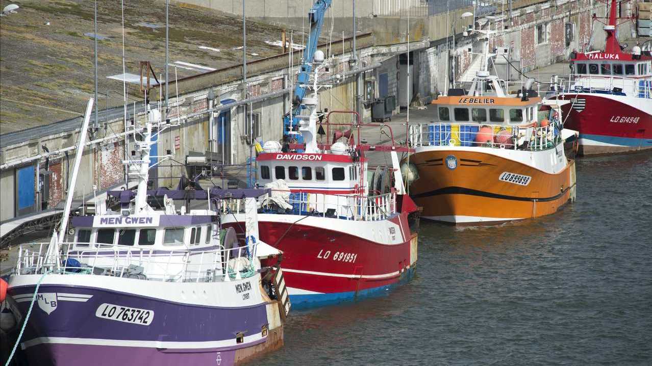
[[[284,209],[278,197],[259,197],[258,208],[265,214],[295,214],[321,216],[357,221],[378,221],[396,214],[396,192],[378,195],[336,195],[328,193],[308,193],[300,190],[272,190],[289,193],[283,201],[291,208]],[[220,210],[224,214],[244,214],[243,199],[222,199]]]

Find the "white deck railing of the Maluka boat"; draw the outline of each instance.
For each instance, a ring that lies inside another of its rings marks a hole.
[[[595,92],[652,98],[652,77],[607,76],[595,74],[570,74],[551,92]]]

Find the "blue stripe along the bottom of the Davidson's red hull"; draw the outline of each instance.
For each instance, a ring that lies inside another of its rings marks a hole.
[[[335,305],[344,302],[355,302],[366,298],[373,298],[383,296],[395,287],[407,283],[414,277],[415,265],[408,268],[395,283],[380,287],[372,287],[371,289],[360,291],[348,292],[333,292],[330,294],[304,294],[304,295],[290,295],[289,300],[292,303],[293,310],[312,309],[314,307],[321,307],[327,305]]]

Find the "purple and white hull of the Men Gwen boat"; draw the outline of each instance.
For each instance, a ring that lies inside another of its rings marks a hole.
[[[37,280],[40,275],[20,277],[22,283],[10,282],[9,293],[26,315],[36,281],[25,277]],[[209,299],[225,294],[215,289],[216,283],[46,275],[22,337],[22,352],[31,365],[215,365],[216,359],[220,365],[235,365],[282,346],[276,303],[254,293],[259,279],[256,275],[220,284],[249,283],[245,288],[250,287],[253,303],[217,305],[217,300],[209,305]],[[116,285],[124,290],[116,290]],[[153,296],[144,288],[153,286],[168,287],[169,296]],[[149,318],[143,319],[147,324],[130,322],[131,313],[122,321],[107,318],[112,305],[117,305],[116,311],[121,307],[149,311]],[[242,342],[236,339],[239,332],[244,334]]]

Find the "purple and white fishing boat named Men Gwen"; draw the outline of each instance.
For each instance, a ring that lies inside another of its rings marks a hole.
[[[255,199],[267,191],[147,191],[151,141],[164,128],[134,127],[138,160],[125,163],[138,190],[109,192],[119,210],[97,202],[95,215],[73,217],[66,231],[68,197],[59,234],[20,248],[8,294],[26,318],[20,348],[29,365],[222,366],[283,345],[282,272],[260,264],[280,252],[257,240]],[[162,204],[148,204],[152,196]],[[244,245],[220,227],[226,197],[248,205]],[[207,207],[186,212],[175,199]]]

